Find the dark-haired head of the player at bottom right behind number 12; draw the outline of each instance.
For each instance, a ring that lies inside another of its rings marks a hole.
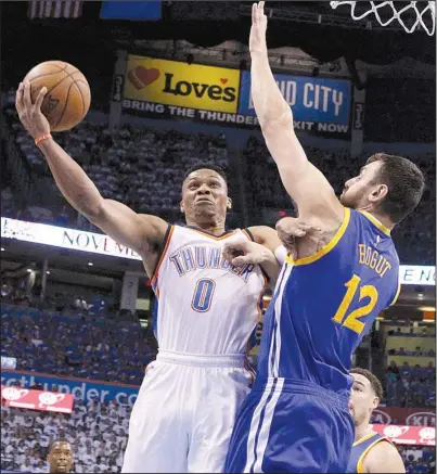
[[[383,387],[377,377],[367,369],[356,368],[350,374],[354,377],[349,400],[350,414],[356,426],[369,424],[372,411],[383,398]]]

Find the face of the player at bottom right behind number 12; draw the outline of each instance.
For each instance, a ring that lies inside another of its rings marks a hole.
[[[352,373],[354,385],[349,399],[349,411],[356,426],[369,423],[372,411],[377,407],[378,398],[365,376]]]

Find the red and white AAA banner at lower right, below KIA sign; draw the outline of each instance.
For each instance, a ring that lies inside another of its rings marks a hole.
[[[373,424],[372,430],[397,445],[436,446],[436,428],[430,426],[399,426]]]

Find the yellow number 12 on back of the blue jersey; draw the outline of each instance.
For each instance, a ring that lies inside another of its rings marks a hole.
[[[362,321],[359,321],[359,318],[363,318],[372,312],[373,308],[377,302],[377,290],[373,285],[363,285],[360,286],[361,279],[357,274],[355,274],[346,284],[347,287],[346,295],[343,298],[342,304],[339,305],[337,312],[332,319],[334,322],[342,324],[345,328],[350,329],[357,334],[361,334],[364,330],[365,324]],[[360,297],[359,302],[362,299],[369,298],[369,303],[360,308],[355,309],[349,315],[346,316],[350,304],[354,300],[354,297],[360,286]]]

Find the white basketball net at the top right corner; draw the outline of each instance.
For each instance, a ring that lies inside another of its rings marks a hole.
[[[397,20],[399,24],[403,27],[403,29],[407,33],[413,33],[417,26],[420,25],[429,36],[433,36],[436,30],[436,3],[435,1],[410,1],[410,2],[394,2],[394,1],[370,1],[371,9],[367,12],[362,13],[361,15],[355,13],[355,8],[357,5],[357,1],[332,1],[330,2],[331,7],[335,10],[337,7],[340,5],[350,5],[350,15],[351,17],[357,20],[362,20],[365,16],[373,13],[378,21],[381,26],[387,26],[389,25],[394,20]],[[360,2],[360,5],[362,5],[364,2]],[[395,4],[398,3],[399,10],[396,9]],[[401,5],[399,5],[399,3]],[[422,9],[422,11],[419,9],[417,3],[421,5],[425,4],[425,7]],[[386,7],[391,8],[393,16],[386,21],[384,21],[380,15],[380,10],[384,9]],[[415,14],[415,21],[413,25],[408,26],[401,18],[402,13],[409,12],[412,10]],[[425,20],[430,18],[429,22],[425,22]],[[429,24],[427,24],[429,23]]]

